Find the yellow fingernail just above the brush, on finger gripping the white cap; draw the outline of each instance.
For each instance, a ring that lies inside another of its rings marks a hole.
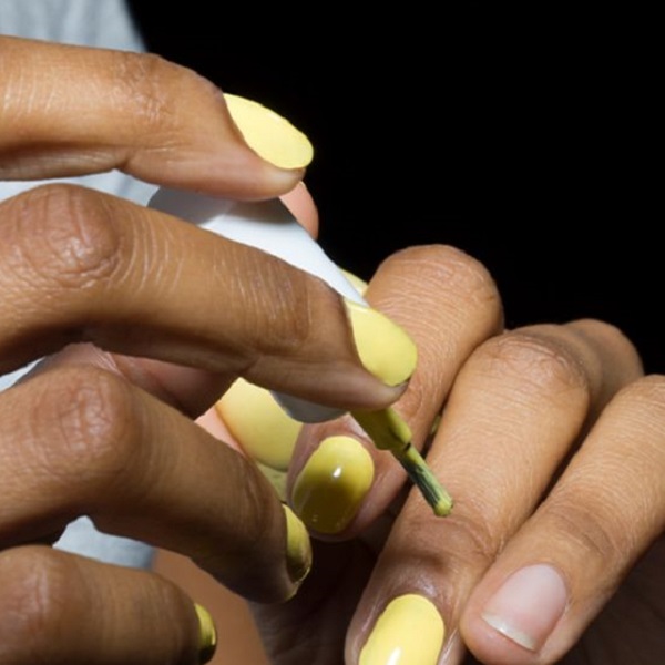
[[[360,361],[388,386],[399,386],[416,369],[418,351],[411,338],[380,311],[346,300]]]

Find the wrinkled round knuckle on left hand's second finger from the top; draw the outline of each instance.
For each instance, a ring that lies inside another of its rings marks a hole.
[[[103,196],[72,185],[44,185],[18,196],[14,205],[14,256],[27,278],[84,289],[116,270],[123,238]]]

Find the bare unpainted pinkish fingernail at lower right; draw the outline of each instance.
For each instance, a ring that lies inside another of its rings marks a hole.
[[[513,573],[487,603],[482,617],[495,631],[531,652],[539,651],[567,603],[563,579],[550,565]]]

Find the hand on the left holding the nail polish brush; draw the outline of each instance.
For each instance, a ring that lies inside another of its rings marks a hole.
[[[193,72],[9,38],[0,53],[0,177],[120,168],[260,198],[303,175],[252,152]],[[48,543],[88,514],[284,600],[307,566],[301,525],[192,419],[238,375],[344,408],[402,388],[361,366],[336,294],[254,249],[62,184],[1,202],[0,224],[0,370],[54,354],[0,395],[0,663],[198,662],[181,590]]]

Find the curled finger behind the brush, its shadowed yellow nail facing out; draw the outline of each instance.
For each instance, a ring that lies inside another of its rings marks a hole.
[[[457,249],[418,247],[386,262],[366,297],[417,344],[418,366],[396,410],[421,449],[459,367],[501,326],[494,283]],[[383,513],[402,488],[405,471],[346,418],[305,430],[289,479],[291,505],[307,525],[347,538]]]

